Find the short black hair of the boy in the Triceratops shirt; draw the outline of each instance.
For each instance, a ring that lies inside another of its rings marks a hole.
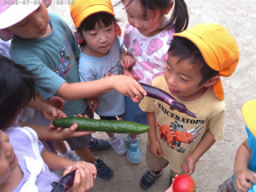
[[[194,66],[201,66],[202,81],[199,83],[199,86],[218,75],[218,71],[211,69],[206,64],[198,47],[187,38],[174,37],[172,42],[170,42],[168,56],[178,57],[179,61],[186,59]]]

